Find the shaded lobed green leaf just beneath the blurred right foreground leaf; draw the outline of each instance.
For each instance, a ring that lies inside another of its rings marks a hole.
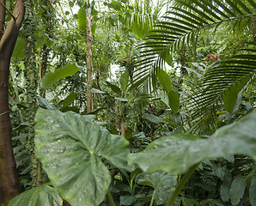
[[[177,177],[172,173],[147,173],[137,180],[139,185],[149,185],[155,189],[155,203],[167,203],[177,184]]]

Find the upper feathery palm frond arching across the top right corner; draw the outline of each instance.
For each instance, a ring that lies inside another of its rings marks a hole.
[[[171,61],[171,51],[180,51],[184,45],[195,46],[198,33],[209,27],[218,27],[227,21],[241,21],[256,15],[253,0],[178,0],[164,20],[155,24],[140,46],[135,82],[154,74]],[[178,4],[176,4],[178,5]],[[150,71],[152,71],[150,73]]]

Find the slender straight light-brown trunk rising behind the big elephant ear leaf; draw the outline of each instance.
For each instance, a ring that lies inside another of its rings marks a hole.
[[[93,104],[93,96],[90,91],[92,85],[92,78],[93,78],[93,51],[92,45],[94,42],[93,33],[91,28],[91,21],[93,16],[91,15],[90,8],[87,9],[86,12],[86,19],[87,19],[87,53],[86,53],[86,64],[87,64],[87,112],[92,112],[94,110]]]

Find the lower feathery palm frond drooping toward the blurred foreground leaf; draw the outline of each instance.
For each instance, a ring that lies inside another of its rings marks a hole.
[[[193,88],[191,97],[185,102],[190,118],[196,120],[191,132],[215,130],[217,116],[225,113],[223,107],[226,112],[229,109],[229,112],[233,111],[237,94],[256,74],[256,50],[246,51],[246,54],[212,64],[197,87]]]

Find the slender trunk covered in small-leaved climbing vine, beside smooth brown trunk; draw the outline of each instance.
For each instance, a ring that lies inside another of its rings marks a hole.
[[[27,150],[31,154],[31,179],[33,180],[33,186],[40,185],[40,162],[34,155],[34,117],[38,109],[38,93],[37,88],[39,87],[39,70],[36,64],[35,57],[35,37],[34,29],[36,25],[36,19],[34,18],[34,5],[33,0],[27,0],[26,5],[26,14],[25,14],[25,29],[26,29],[26,58],[24,60],[25,64],[25,89],[26,89],[26,102],[27,102],[27,111],[25,116],[27,116],[27,122],[29,126],[28,138],[27,138]]]

